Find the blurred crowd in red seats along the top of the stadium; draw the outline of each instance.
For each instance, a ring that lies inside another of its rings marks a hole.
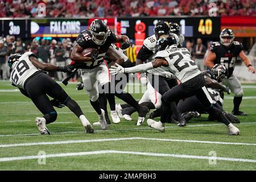
[[[209,15],[212,8],[217,16],[256,15],[256,0],[2,0],[0,17],[40,17],[42,2],[54,18]]]

